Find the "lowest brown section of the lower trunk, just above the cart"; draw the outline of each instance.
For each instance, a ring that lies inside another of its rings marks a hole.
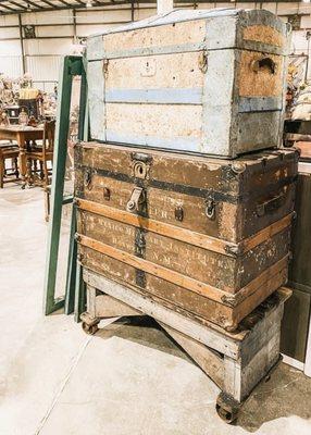
[[[226,295],[224,300],[213,300],[213,294],[201,295],[190,291],[184,287],[167,282],[166,279],[146,273],[145,287],[137,286],[136,269],[128,263],[122,263],[119,260],[110,258],[92,249],[80,246],[82,263],[97,273],[103,274],[110,279],[114,279],[124,286],[134,288],[136,291],[160,301],[162,304],[172,310],[183,312],[192,319],[197,319],[201,323],[206,321],[214,322],[226,328],[236,328],[238,323],[250,313],[259,303],[261,303],[274,290],[285,284],[287,275],[287,261],[274,268],[275,274],[270,271],[265,273],[268,281],[261,276],[253,285],[248,288],[249,295],[244,301],[235,301],[229,294],[217,293],[215,297],[220,299],[221,295]],[[139,259],[138,259],[139,260]],[[166,275],[171,276],[170,271]],[[166,276],[165,275],[165,276]],[[172,279],[172,277],[170,278]],[[239,295],[237,294],[237,298]]]

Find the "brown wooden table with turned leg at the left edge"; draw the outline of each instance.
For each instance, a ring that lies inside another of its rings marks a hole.
[[[30,140],[42,140],[43,126],[28,127],[22,125],[0,125],[0,140],[15,140],[20,147],[20,173],[22,178],[22,188],[26,185],[27,160],[26,149]]]

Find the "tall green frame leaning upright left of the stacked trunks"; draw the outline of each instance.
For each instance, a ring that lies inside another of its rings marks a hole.
[[[48,236],[48,253],[45,278],[45,296],[43,312],[50,314],[53,311],[65,307],[65,313],[70,314],[75,309],[76,278],[80,279],[82,273],[77,273],[76,253],[77,247],[74,239],[76,227],[76,211],[73,206],[72,227],[69,248],[69,264],[66,275],[65,296],[55,298],[55,283],[59,259],[60,232],[62,207],[65,203],[73,202],[73,197],[64,197],[64,176],[67,154],[67,138],[70,130],[70,110],[72,97],[72,83],[74,76],[82,76],[80,86],[80,110],[78,139],[87,139],[88,122],[87,122],[87,83],[84,59],[77,55],[69,55],[63,58],[61,74],[59,79],[59,101],[55,127],[55,145],[53,154],[53,177],[51,190],[51,215]],[[82,285],[78,283],[77,288]],[[80,293],[83,293],[80,290]],[[79,297],[80,299],[80,297]]]

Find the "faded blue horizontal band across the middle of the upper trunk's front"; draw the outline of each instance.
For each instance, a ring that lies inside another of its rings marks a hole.
[[[202,88],[192,89],[110,89],[105,102],[202,104]]]

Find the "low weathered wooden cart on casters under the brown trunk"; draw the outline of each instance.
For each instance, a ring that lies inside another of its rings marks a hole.
[[[233,334],[210,322],[198,323],[88,269],[84,281],[87,311],[80,318],[86,333],[95,334],[101,319],[152,316],[221,388],[216,411],[227,423],[237,419],[242,402],[279,361],[284,302],[291,294],[287,288],[261,303]]]

